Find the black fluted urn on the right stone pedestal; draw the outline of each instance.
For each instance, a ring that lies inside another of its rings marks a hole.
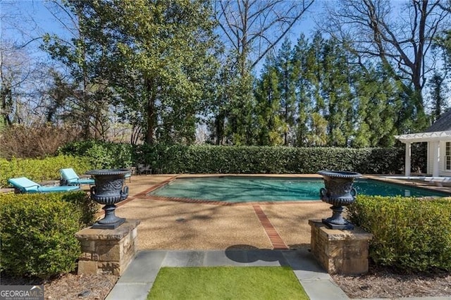
[[[362,174],[346,171],[328,171],[321,170],[318,174],[323,175],[325,188],[319,190],[321,201],[332,204],[330,209],[332,216],[323,219],[330,229],[352,230],[354,225],[345,220],[342,216],[343,206],[348,206],[355,201],[357,191],[354,189],[354,179],[361,177]]]

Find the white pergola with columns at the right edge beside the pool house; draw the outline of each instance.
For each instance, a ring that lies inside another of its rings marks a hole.
[[[440,175],[440,141],[451,140],[451,130],[437,132],[420,132],[407,135],[395,135],[396,139],[406,144],[405,155],[405,176],[410,177],[410,161],[412,152],[412,143],[430,142],[433,157],[432,177]]]

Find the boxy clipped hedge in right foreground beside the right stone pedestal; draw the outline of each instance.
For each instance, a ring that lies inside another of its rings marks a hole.
[[[357,196],[350,221],[374,235],[370,258],[407,271],[451,271],[451,199]]]

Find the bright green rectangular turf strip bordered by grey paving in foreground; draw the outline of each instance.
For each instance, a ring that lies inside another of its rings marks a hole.
[[[161,268],[147,299],[309,299],[289,267]]]

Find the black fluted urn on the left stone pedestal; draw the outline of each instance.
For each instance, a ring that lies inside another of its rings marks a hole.
[[[94,177],[95,185],[91,187],[91,199],[104,204],[105,217],[92,225],[94,229],[116,229],[125,222],[125,218],[118,218],[114,214],[116,204],[127,199],[128,187],[124,185],[125,174],[128,169],[89,170],[86,174]]]

